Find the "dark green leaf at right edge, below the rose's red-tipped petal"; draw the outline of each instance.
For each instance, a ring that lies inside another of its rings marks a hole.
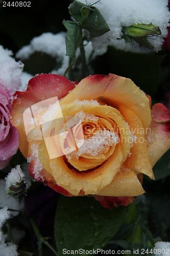
[[[166,178],[170,175],[170,150],[168,150],[155,164],[153,171],[156,180]]]

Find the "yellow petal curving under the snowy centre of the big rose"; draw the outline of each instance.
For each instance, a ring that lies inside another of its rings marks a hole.
[[[111,155],[102,166],[91,172],[79,172],[73,167],[69,168],[63,157],[50,159],[43,141],[39,145],[38,154],[43,167],[53,175],[56,183],[74,196],[95,194],[101,187],[109,184],[123,159],[120,144],[117,144],[115,154]]]

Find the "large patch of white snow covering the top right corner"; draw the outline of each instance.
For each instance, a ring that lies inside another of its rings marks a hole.
[[[86,0],[80,0],[80,2],[86,4]],[[95,0],[88,0],[87,4],[95,2]],[[93,38],[93,48],[106,48],[110,44],[110,40],[122,37],[123,26],[138,23],[153,23],[160,28],[163,37],[166,37],[170,18],[167,4],[167,0],[100,0],[93,6],[100,10],[110,31]],[[163,38],[158,37],[150,42],[158,51],[163,43]]]

